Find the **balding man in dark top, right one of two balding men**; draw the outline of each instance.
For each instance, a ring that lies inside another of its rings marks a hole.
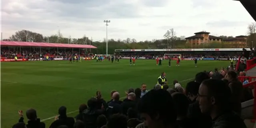
[[[127,111],[129,108],[136,108],[136,95],[134,92],[131,92],[127,96],[127,100],[125,100],[122,104],[122,112],[124,115],[127,115]]]

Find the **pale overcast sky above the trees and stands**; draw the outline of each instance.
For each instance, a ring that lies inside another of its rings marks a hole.
[[[214,36],[245,35],[254,22],[233,0],[1,0],[2,34],[22,29],[44,36],[57,34],[94,40],[108,38],[162,39],[174,28],[177,36],[205,30]]]

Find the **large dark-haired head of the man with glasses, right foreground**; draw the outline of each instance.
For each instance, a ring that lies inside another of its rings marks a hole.
[[[197,99],[201,112],[215,118],[220,112],[230,109],[230,97],[230,88],[224,81],[208,79],[200,85]]]

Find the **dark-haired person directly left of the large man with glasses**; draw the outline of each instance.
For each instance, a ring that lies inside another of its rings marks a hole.
[[[198,95],[198,89],[200,84],[198,82],[188,82],[186,86],[186,95],[190,100],[190,104],[188,106],[188,118],[194,120],[194,122],[198,123],[198,128],[211,128],[212,119],[210,116],[206,114],[202,114],[199,102],[196,100]]]

